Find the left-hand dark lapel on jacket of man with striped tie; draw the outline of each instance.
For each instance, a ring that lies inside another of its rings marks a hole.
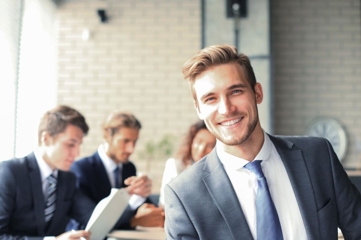
[[[27,155],[29,167],[29,176],[32,188],[32,200],[34,201],[35,218],[38,226],[39,236],[44,235],[44,194],[42,189],[42,180],[40,179],[40,170],[36,162],[34,153]]]

